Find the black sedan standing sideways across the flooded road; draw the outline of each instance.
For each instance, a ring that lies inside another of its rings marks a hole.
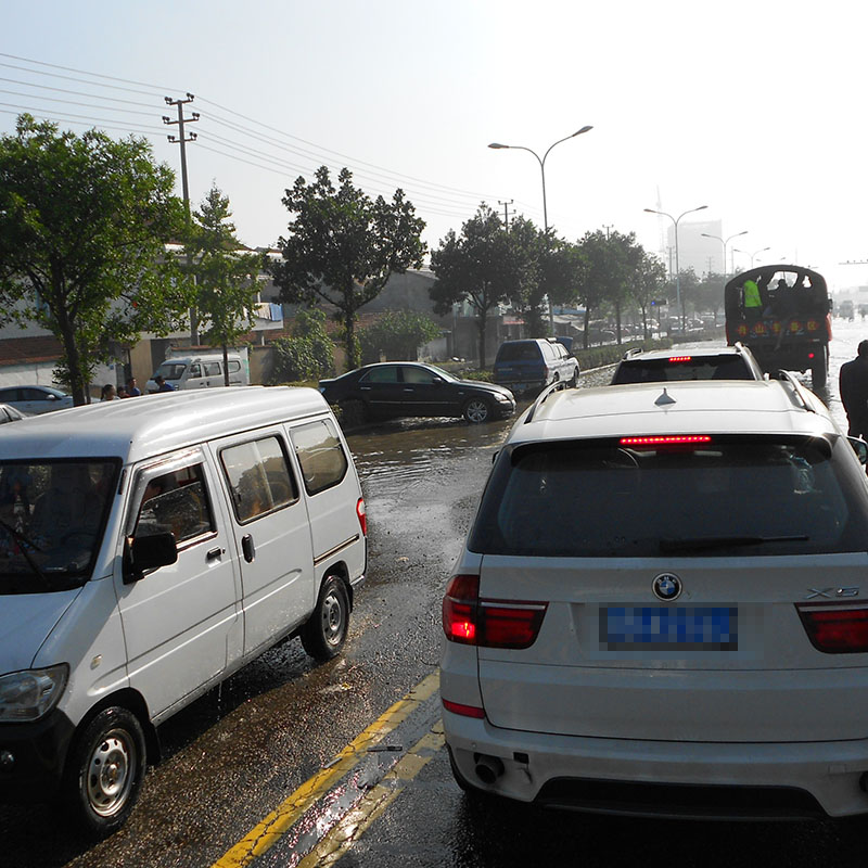
[[[366,365],[334,380],[320,380],[329,404],[357,401],[368,419],[405,416],[462,416],[486,422],[515,412],[515,398],[503,386],[459,380],[433,365],[385,361]]]

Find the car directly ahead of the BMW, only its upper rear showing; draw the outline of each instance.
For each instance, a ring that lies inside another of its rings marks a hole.
[[[669,380],[762,380],[763,369],[746,346],[702,349],[629,350],[612,374],[612,385]]]

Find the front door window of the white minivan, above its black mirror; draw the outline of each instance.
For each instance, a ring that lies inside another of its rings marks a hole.
[[[178,545],[216,531],[202,464],[151,476],[136,513],[133,536],[170,532]]]

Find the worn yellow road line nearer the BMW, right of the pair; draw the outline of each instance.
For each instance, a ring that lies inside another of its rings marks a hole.
[[[398,797],[400,791],[429,763],[445,743],[443,722],[423,736],[395,767],[361,797],[334,828],[298,863],[298,868],[329,868],[334,865],[374,820]]]

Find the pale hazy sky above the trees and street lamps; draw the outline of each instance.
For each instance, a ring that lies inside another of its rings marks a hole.
[[[736,269],[812,266],[868,286],[868,5],[851,0],[3,0],[0,135],[29,111],[166,140],[177,107],[190,199],[229,196],[239,238],[275,244],[298,176],[348,167],[401,188],[430,248],[481,202],[567,240],[609,227],[661,252],[667,218],[720,220]],[[714,245],[713,245],[714,246]],[[764,248],[768,247],[768,251]],[[719,250],[716,248],[716,250]],[[766,258],[767,257],[767,258]],[[729,259],[729,256],[727,256]]]

